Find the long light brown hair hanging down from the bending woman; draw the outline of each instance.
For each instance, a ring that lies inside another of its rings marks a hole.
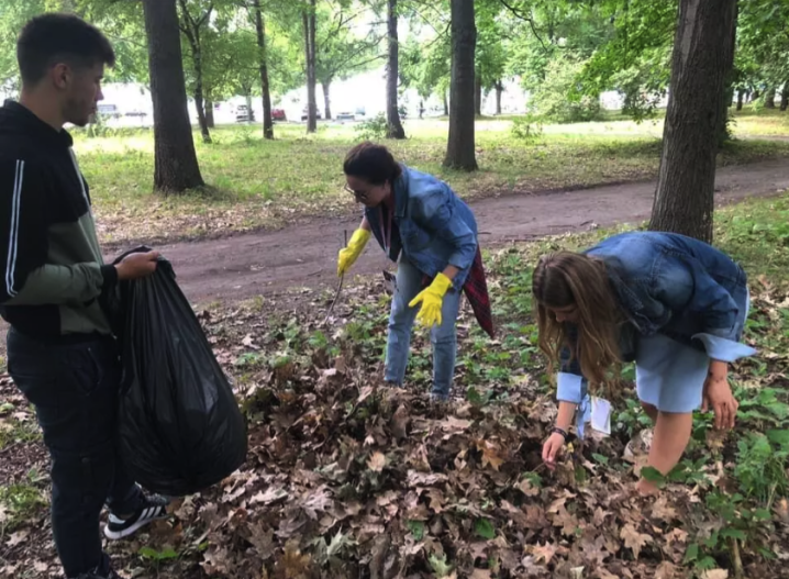
[[[540,349],[548,357],[552,371],[559,364],[562,348],[580,364],[581,374],[597,391],[607,382],[609,370],[619,370],[619,333],[626,320],[611,286],[605,264],[582,254],[558,252],[540,259],[532,278]],[[566,325],[553,309],[575,307],[578,339],[571,344]]]

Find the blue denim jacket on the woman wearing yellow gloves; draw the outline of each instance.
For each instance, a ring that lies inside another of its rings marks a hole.
[[[459,269],[456,290],[466,281],[477,254],[477,222],[469,207],[444,181],[401,165],[393,183],[393,220],[400,232],[402,253],[422,274],[435,277],[447,265]],[[384,248],[380,211],[365,208],[373,234]],[[389,255],[396,260],[397,255]]]

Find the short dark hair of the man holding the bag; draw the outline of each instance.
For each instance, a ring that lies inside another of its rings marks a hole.
[[[58,63],[114,66],[115,53],[99,29],[74,14],[48,13],[30,20],[16,41],[22,81],[36,85]]]

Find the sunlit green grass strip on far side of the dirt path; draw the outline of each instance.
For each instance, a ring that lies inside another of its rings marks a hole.
[[[773,135],[785,121],[780,114],[748,112],[737,116],[737,131]],[[663,131],[662,121],[546,125],[536,142],[526,143],[512,135],[511,119],[484,119],[477,122],[480,170],[467,174],[442,167],[447,126],[446,120],[408,121],[409,138],[387,144],[399,159],[447,180],[465,198],[654,178]],[[323,124],[309,137],[298,124],[279,124],[275,131],[274,142],[264,142],[251,126],[218,127],[211,145],[196,135],[210,188],[169,198],[152,194],[149,131],[78,134],[76,147],[91,183],[102,241],[201,236],[353,211],[342,188],[342,162],[359,141],[354,126]],[[784,156],[789,156],[789,142],[736,141],[719,163]]]

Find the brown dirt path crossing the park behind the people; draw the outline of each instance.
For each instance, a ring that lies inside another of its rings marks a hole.
[[[789,189],[786,159],[719,169],[716,201],[769,196]],[[568,192],[509,196],[473,203],[484,246],[542,235],[581,231],[592,223],[637,222],[652,209],[654,182],[627,183]],[[335,263],[359,216],[316,220],[275,232],[160,246],[193,301],[248,298],[293,287],[333,287]],[[354,274],[380,271],[387,260],[375,241]]]

